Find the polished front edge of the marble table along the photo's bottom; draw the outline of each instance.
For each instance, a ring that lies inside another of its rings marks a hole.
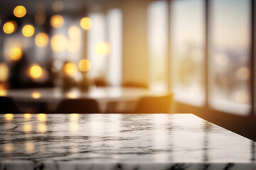
[[[124,170],[218,170],[218,169],[232,169],[232,170],[255,170],[255,163],[90,163],[90,162],[1,162],[0,169],[13,170],[110,170],[110,169],[124,169]]]

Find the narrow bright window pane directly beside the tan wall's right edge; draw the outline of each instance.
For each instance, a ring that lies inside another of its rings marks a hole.
[[[167,90],[167,15],[166,1],[155,1],[148,8],[150,88]]]

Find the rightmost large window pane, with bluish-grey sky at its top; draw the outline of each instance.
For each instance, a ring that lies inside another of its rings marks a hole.
[[[210,105],[245,115],[250,111],[250,1],[210,2]]]

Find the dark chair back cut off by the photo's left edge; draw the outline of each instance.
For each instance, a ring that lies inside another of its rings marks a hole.
[[[12,98],[0,97],[0,113],[20,113]]]

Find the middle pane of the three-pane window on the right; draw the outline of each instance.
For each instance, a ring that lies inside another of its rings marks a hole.
[[[177,101],[202,106],[204,81],[203,0],[171,4],[171,77]]]

